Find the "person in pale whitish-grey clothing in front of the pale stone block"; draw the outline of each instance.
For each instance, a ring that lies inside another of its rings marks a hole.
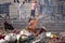
[[[26,18],[26,11],[25,11],[25,8],[24,8],[25,2],[26,2],[26,1],[24,0],[24,1],[23,1],[22,3],[20,3],[20,5],[18,5],[20,20]]]

